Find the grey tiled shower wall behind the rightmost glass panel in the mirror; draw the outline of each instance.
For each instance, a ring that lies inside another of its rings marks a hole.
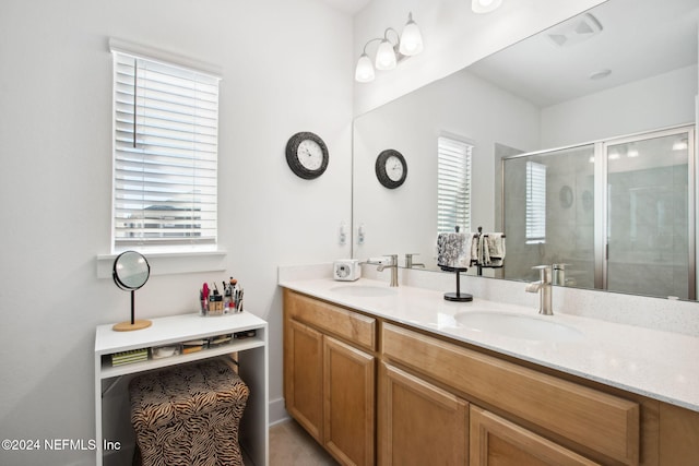
[[[608,162],[609,290],[688,297],[689,174],[687,153],[673,151],[673,139],[637,144],[638,162]]]

